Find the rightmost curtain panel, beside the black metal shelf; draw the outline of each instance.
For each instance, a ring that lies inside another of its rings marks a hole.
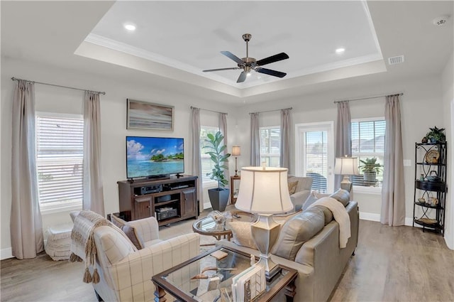
[[[384,107],[384,170],[380,221],[390,226],[405,225],[404,154],[399,95],[386,97]]]

